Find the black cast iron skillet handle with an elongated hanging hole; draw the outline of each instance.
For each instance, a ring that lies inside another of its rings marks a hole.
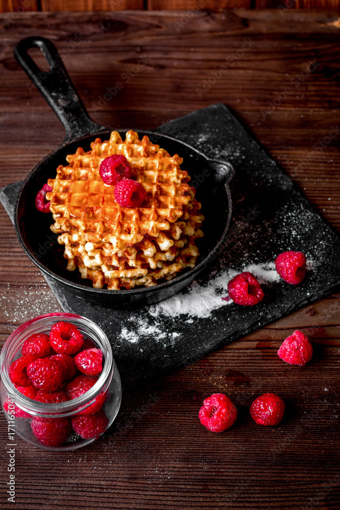
[[[28,54],[30,48],[41,50],[49,64],[48,71],[39,69]],[[17,44],[14,56],[63,123],[65,141],[107,130],[90,119],[53,42],[44,37],[27,37]]]

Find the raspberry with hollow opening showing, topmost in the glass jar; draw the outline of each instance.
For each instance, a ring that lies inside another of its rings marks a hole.
[[[75,354],[83,343],[84,337],[70,322],[57,322],[51,327],[49,343],[58,354]]]

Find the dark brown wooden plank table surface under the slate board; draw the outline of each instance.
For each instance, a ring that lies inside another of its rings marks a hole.
[[[202,11],[188,20],[175,11],[24,13],[9,25],[4,17],[0,186],[23,179],[63,140],[57,117],[13,57],[20,38],[39,34],[55,42],[86,107],[102,124],[150,129],[225,103],[339,230],[338,13]],[[227,72],[214,80],[226,61]],[[310,62],[318,64],[312,73]],[[123,84],[117,95],[101,100],[117,82]],[[1,207],[0,216],[4,342],[24,320],[61,308]],[[116,424],[86,448],[46,452],[18,438],[15,507],[340,508],[339,297],[328,296],[126,392]],[[276,354],[297,328],[315,349],[305,368],[284,364]],[[261,427],[249,417],[252,400],[268,391],[286,401],[277,427]],[[237,423],[221,434],[205,430],[197,417],[203,398],[214,392],[226,393],[239,409]],[[149,394],[155,394],[151,405]],[[3,416],[0,435],[0,507],[10,508]]]

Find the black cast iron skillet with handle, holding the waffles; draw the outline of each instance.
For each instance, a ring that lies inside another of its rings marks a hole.
[[[30,48],[41,50],[50,69],[43,72],[28,54]],[[205,220],[202,225],[204,237],[198,240],[200,257],[197,265],[179,273],[169,282],[154,287],[131,290],[94,289],[92,282],[81,279],[79,272],[66,270],[63,258],[64,246],[57,242],[57,236],[49,230],[52,223],[50,214],[35,208],[35,196],[47,179],[54,179],[56,168],[65,164],[67,154],[73,154],[77,147],[90,149],[95,138],[108,139],[112,130],[93,122],[77,94],[54,44],[43,37],[28,37],[21,40],[14,50],[19,64],[39,89],[47,103],[62,121],[65,141],[43,159],[29,174],[22,185],[15,215],[16,233],[22,248],[30,259],[47,276],[55,281],[62,292],[71,292],[75,298],[85,299],[94,305],[121,307],[123,305],[146,305],[166,299],[189,285],[195,277],[220,253],[227,234],[231,215],[231,198],[228,181],[232,177],[230,163],[207,158],[202,152],[175,138],[154,131],[136,130],[140,137],[147,135],[154,143],[183,158],[182,168],[195,179],[197,199],[202,203]],[[116,130],[124,136],[127,130]],[[37,141],[38,142],[38,141]],[[194,176],[198,176],[198,179]],[[223,180],[218,175],[224,175]],[[201,183],[200,183],[201,181]],[[203,181],[203,182],[202,182]]]

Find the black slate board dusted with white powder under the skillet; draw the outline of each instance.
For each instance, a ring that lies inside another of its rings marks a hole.
[[[139,310],[109,310],[75,301],[46,277],[63,310],[89,317],[106,331],[125,387],[192,363],[325,296],[340,283],[338,237],[226,107],[210,106],[172,120],[158,131],[208,156],[228,160],[236,169],[231,182],[230,235],[220,257],[189,290]],[[17,193],[18,184],[0,192],[9,214],[13,214]],[[305,252],[309,261],[298,286],[285,284],[273,269],[276,256],[288,249]],[[255,307],[222,300],[228,279],[245,269],[264,277],[266,296]]]

